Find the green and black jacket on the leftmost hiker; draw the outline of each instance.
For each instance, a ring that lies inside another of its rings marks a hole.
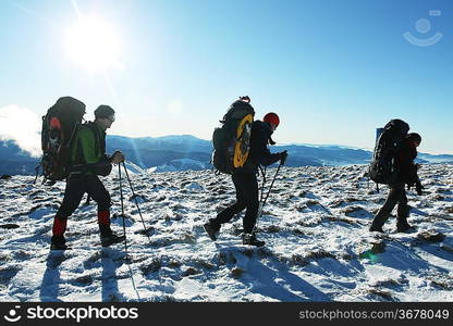
[[[83,124],[74,137],[72,174],[108,175],[111,160],[106,155],[106,131],[95,122]]]

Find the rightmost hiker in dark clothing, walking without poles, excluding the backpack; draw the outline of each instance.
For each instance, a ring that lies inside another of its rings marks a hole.
[[[418,164],[414,163],[414,160],[417,156],[417,147],[420,142],[421,137],[416,133],[409,133],[404,138],[403,145],[395,155],[395,167],[397,171],[395,181],[389,185],[389,196],[372,220],[369,228],[370,231],[383,233],[382,226],[390,217],[390,214],[396,204],[396,231],[405,233],[414,229],[414,227],[407,223],[411,208],[407,205],[406,190],[404,187],[407,185],[407,188],[411,189],[415,184],[417,195],[423,195],[424,187],[417,175]]]

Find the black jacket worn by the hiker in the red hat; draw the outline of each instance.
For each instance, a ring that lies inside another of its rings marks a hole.
[[[237,168],[237,172],[258,172],[259,165],[271,165],[281,159],[280,153],[272,154],[268,149],[271,139],[272,129],[268,123],[255,121],[252,125],[250,151],[244,167]]]

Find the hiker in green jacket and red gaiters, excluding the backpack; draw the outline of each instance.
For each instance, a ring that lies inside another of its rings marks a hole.
[[[110,195],[98,178],[98,175],[110,174],[112,164],[124,161],[120,151],[111,156],[106,155],[106,130],[113,122],[114,110],[100,105],[95,110],[95,121],[77,129],[63,202],[53,220],[51,250],[68,249],[64,239],[68,217],[77,209],[85,192],[98,204],[101,246],[108,247],[124,240],[124,236],[117,236],[110,228]]]

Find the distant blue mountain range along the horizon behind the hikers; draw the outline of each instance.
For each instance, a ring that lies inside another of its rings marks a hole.
[[[107,136],[107,152],[121,150],[127,160],[152,172],[211,168],[212,145],[191,135],[130,138]],[[287,166],[367,164],[371,151],[343,146],[273,146],[272,152],[287,150]],[[0,175],[35,174],[39,159],[30,156],[13,140],[0,140]],[[453,163],[450,154],[419,153],[420,163]]]

